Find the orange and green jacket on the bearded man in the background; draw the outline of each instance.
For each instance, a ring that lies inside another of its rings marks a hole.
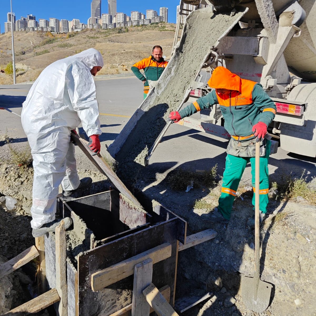
[[[149,56],[148,58],[144,58],[138,63],[134,64],[131,68],[134,75],[141,81],[144,81],[144,93],[147,94],[149,91],[149,83],[148,80],[157,81],[161,76],[162,72],[167,67],[168,62],[161,58],[161,61],[158,63],[155,61],[153,56]],[[144,74],[142,74],[139,70],[143,69]]]

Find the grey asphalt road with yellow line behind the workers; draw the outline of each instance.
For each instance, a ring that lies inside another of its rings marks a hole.
[[[119,134],[129,117],[143,100],[142,82],[137,78],[119,78],[95,81],[97,99],[100,107],[100,122],[103,134],[101,154]],[[25,100],[31,85],[0,86],[0,107],[21,114],[22,102]],[[195,114],[197,118],[198,114]],[[22,130],[20,118],[13,113],[0,110],[0,135],[9,134],[16,142],[25,143],[27,138]],[[148,171],[162,173],[175,167],[185,169],[210,169],[218,165],[218,173],[225,167],[226,147],[228,141],[191,130],[187,127],[172,124],[162,142],[150,159]],[[290,154],[278,149],[270,156],[270,179],[277,181],[280,177],[292,173],[300,177],[305,170],[307,182],[316,177],[316,159]],[[242,178],[244,184],[251,184],[250,165]]]

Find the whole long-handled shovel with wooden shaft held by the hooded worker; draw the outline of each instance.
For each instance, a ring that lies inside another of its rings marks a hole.
[[[255,273],[253,278],[243,276],[241,294],[245,306],[256,313],[265,311],[270,302],[272,285],[260,280],[260,244],[259,244],[259,184],[260,184],[260,142],[256,143],[255,165]]]

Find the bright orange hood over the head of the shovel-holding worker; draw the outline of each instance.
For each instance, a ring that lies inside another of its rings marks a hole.
[[[211,88],[215,89],[240,91],[241,80],[240,76],[233,74],[225,67],[219,66],[214,69],[207,83]]]

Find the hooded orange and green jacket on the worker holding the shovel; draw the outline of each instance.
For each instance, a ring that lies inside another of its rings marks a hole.
[[[276,106],[261,84],[241,79],[222,66],[213,71],[208,84],[211,88],[232,91],[230,94],[219,94],[212,90],[179,111],[181,118],[219,104],[226,131],[241,142],[254,138],[253,125],[260,121],[268,126],[274,119]]]

